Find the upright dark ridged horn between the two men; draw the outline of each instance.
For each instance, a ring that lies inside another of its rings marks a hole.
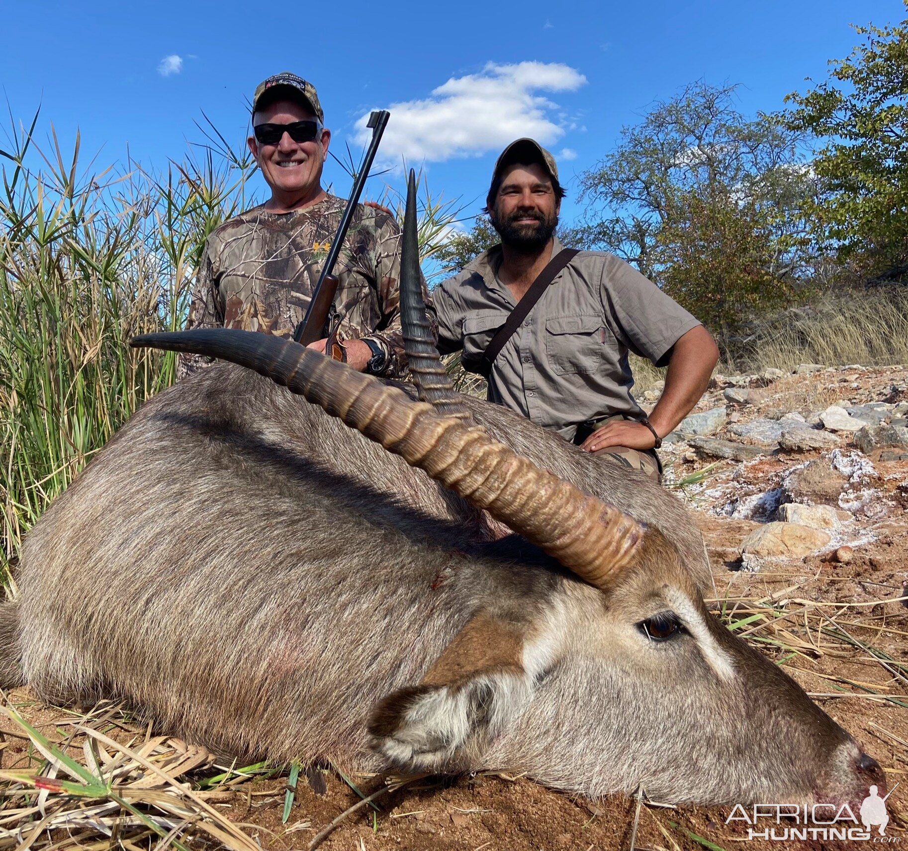
[[[456,416],[472,424],[469,410],[459,400],[441,363],[435,338],[426,316],[419,284],[419,240],[416,227],[416,172],[410,169],[407,183],[407,211],[403,220],[400,248],[400,325],[410,372],[419,388],[419,398],[429,402],[441,415]]]

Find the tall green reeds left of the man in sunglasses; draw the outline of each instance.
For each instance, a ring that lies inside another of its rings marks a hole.
[[[202,149],[166,173],[41,148],[35,120],[0,149],[0,582],[23,535],[143,400],[173,353],[135,334],[183,327],[204,241],[251,200],[254,161]],[[77,554],[74,553],[77,557]]]

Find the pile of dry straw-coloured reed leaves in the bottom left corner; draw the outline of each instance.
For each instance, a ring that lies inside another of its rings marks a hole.
[[[0,849],[119,844],[130,849],[259,851],[214,807],[233,796],[230,788],[202,791],[180,781],[212,766],[205,748],[152,737],[110,706],[75,718],[64,739],[56,740],[8,701],[0,709],[21,731],[12,735],[31,746],[20,760],[24,767],[0,771]],[[126,743],[108,735],[114,729],[119,739],[126,733]]]

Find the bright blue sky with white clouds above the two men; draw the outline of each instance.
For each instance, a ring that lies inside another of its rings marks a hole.
[[[574,176],[647,105],[702,78],[740,83],[747,113],[773,111],[804,77],[824,79],[827,61],[849,53],[849,24],[905,16],[901,0],[34,0],[0,6],[0,83],[17,120],[43,104],[39,138],[54,122],[69,146],[78,127],[84,154],[100,150],[100,165],[122,161],[128,145],[133,159],[163,168],[203,141],[194,124],[202,110],[244,143],[256,83],[292,70],[317,86],[337,152],[357,143],[371,108],[390,107],[386,157],[424,162],[431,191],[460,197],[465,216],[482,206],[503,144],[536,134],[558,157],[570,220]],[[326,177],[346,194],[336,166]],[[367,195],[387,179],[373,178]]]

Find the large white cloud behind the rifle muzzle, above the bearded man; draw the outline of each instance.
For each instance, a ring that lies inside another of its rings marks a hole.
[[[587,78],[560,63],[489,63],[480,73],[451,77],[424,100],[392,103],[381,142],[382,159],[445,161],[479,156],[530,136],[542,144],[565,133],[558,105],[540,92],[574,92]],[[554,114],[553,114],[554,113]],[[357,140],[370,139],[369,113],[358,122]]]

